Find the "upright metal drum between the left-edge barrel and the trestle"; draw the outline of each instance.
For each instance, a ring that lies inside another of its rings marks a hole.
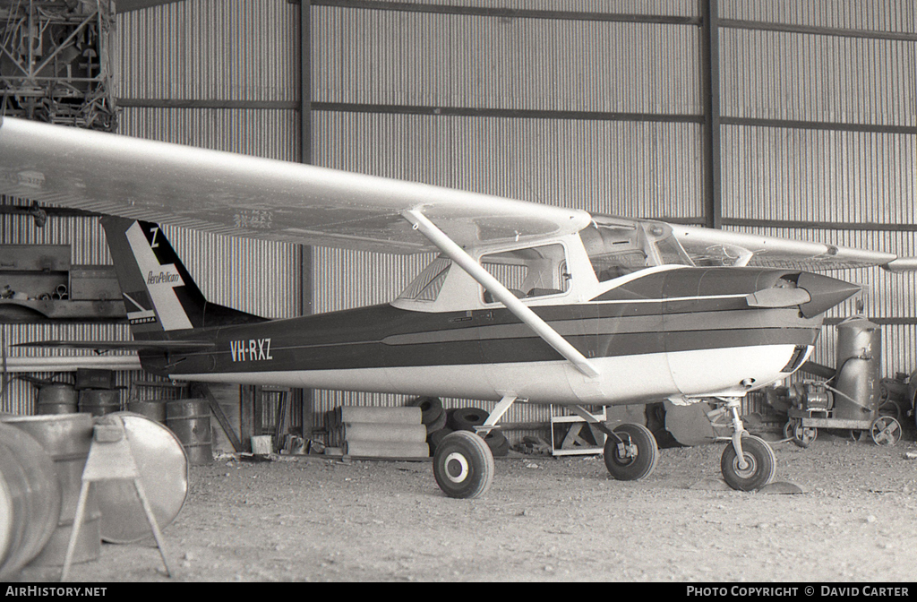
[[[47,545],[32,564],[62,566],[73,530],[76,505],[80,499],[83,468],[93,442],[93,417],[89,414],[61,414],[4,418],[4,421],[39,441],[54,463],[61,484],[61,515]],[[99,557],[102,547],[100,516],[95,488],[90,485],[83,524],[73,552],[73,563],[85,563]]]

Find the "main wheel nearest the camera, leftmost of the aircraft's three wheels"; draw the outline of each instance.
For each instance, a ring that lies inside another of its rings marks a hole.
[[[493,481],[493,454],[478,435],[468,430],[449,433],[433,456],[436,485],[449,497],[482,496]]]

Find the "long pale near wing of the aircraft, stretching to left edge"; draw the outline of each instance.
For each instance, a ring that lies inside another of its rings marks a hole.
[[[569,234],[584,211],[0,117],[0,193],[298,244],[435,251],[420,209],[466,247]]]

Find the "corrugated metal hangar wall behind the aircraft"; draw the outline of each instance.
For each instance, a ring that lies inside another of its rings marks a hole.
[[[184,0],[119,14],[119,131],[917,254],[911,0],[304,6]],[[74,262],[110,261],[92,218],[61,217],[44,231],[23,217],[4,226],[4,241],[61,240],[74,245]],[[428,259],[169,234],[205,295],[271,317],[389,301]],[[910,372],[913,276],[839,277],[868,285],[883,373]],[[852,302],[835,308],[829,323],[853,311]],[[6,340],[127,338],[120,326],[4,329]],[[815,361],[834,363],[833,338],[826,327]],[[357,400],[400,403],[315,392],[315,419]],[[544,408],[518,405],[506,418],[546,419]]]

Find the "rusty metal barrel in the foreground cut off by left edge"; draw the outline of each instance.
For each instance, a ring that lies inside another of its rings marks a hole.
[[[0,424],[0,581],[48,543],[61,516],[54,463],[27,433]]]

